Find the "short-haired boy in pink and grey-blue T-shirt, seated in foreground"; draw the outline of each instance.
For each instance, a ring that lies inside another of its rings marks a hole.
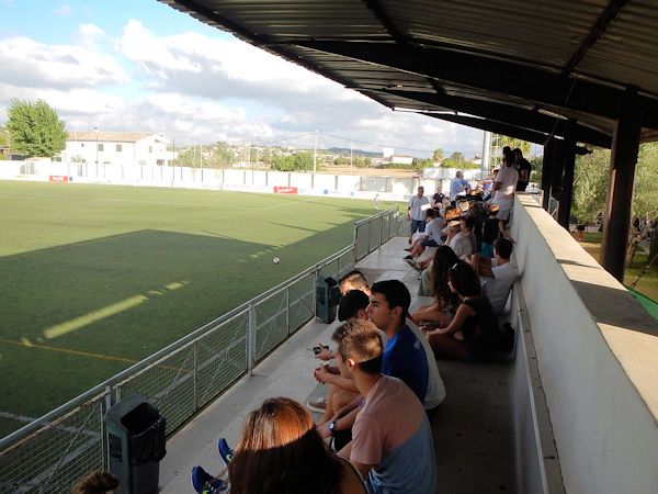
[[[339,454],[361,472],[370,494],[436,492],[432,430],[417,394],[404,381],[381,373],[385,351],[372,323],[354,321],[339,330],[338,364],[365,396],[352,442]]]

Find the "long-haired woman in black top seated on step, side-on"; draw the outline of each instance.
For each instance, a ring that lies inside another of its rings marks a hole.
[[[456,262],[447,271],[451,290],[461,300],[447,325],[427,332],[438,356],[483,361],[499,349],[502,334],[489,299],[483,295],[479,277],[470,265]]]

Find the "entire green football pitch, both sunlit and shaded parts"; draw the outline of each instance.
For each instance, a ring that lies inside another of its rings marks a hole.
[[[340,250],[374,213],[350,199],[0,181],[0,437]]]

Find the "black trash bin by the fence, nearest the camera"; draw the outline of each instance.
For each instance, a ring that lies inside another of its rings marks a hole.
[[[107,428],[110,471],[120,494],[158,491],[160,460],[164,458],[166,420],[154,405],[135,394],[112,406],[103,417]]]

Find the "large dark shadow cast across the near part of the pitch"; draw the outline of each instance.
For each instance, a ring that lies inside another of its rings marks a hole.
[[[0,341],[0,412],[43,415],[131,364],[113,358],[154,353],[341,249],[352,231],[271,246],[144,229],[0,258],[0,335],[12,341]]]

